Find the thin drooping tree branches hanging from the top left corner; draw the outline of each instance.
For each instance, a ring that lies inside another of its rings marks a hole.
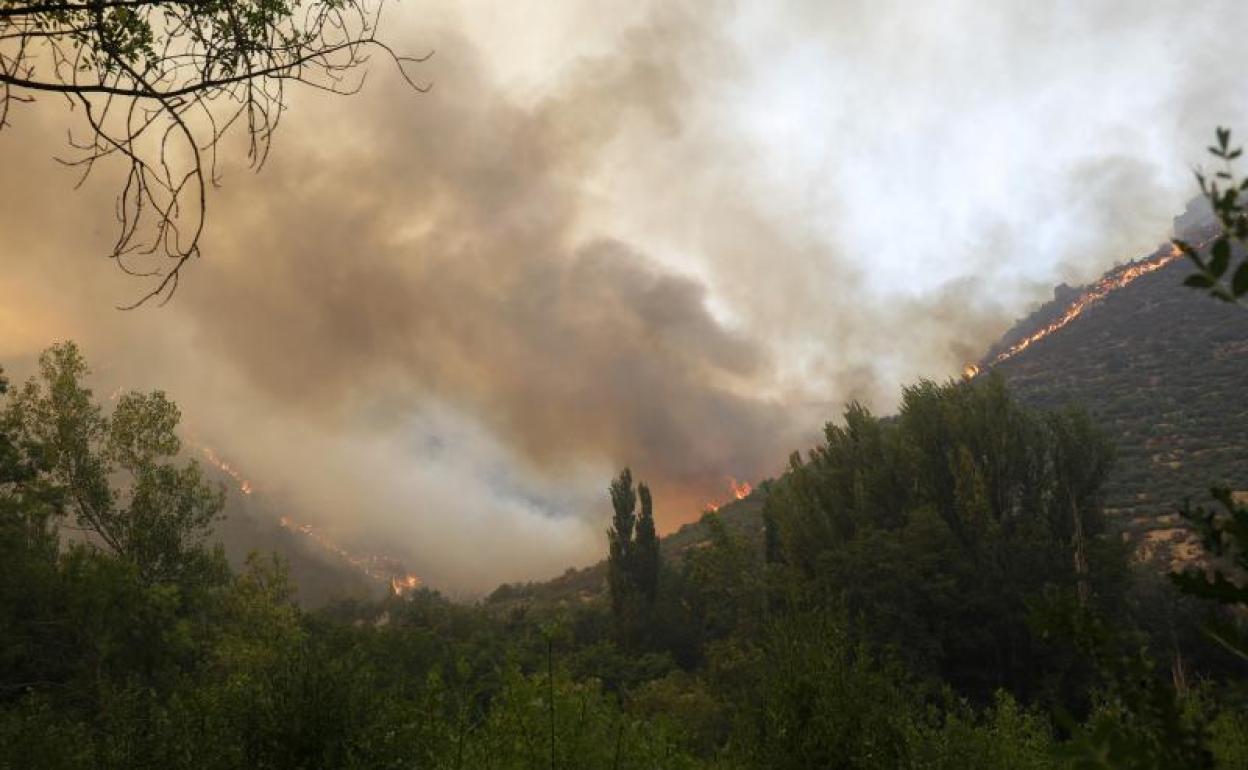
[[[200,255],[217,147],[246,131],[260,170],[286,107],[286,84],[353,94],[369,51],[416,91],[376,37],[383,0],[0,0],[0,130],[11,109],[60,94],[79,116],[71,155],[81,185],[104,161],[124,168],[110,257],[151,280],[135,308],[167,302]]]

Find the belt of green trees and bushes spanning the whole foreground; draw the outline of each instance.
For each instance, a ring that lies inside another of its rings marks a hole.
[[[220,492],[176,463],[172,404],[106,413],[86,373],[66,344],[0,386],[0,768],[1248,756],[1239,661],[1177,634],[1174,589],[1102,533],[1094,426],[1000,382],[920,384],[896,419],[851,407],[769,485],[765,547],[708,517],[622,636],[607,598],[301,610],[278,559],[231,574],[207,545]]]

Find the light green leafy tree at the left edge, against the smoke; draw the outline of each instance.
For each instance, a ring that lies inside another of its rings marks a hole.
[[[40,356],[39,376],[12,394],[0,424],[35,458],[55,510],[91,544],[132,564],[150,583],[208,569],[205,537],[225,488],[181,449],[177,407],[161,391],[122,393],[105,414],[84,383],[86,361],[72,342]]]

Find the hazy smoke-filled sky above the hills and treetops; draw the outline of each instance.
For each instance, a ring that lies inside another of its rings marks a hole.
[[[943,378],[1055,283],[1151,251],[1216,125],[1227,2],[456,2],[387,10],[404,91],[291,99],[226,162],[173,301],[97,255],[116,178],[0,132],[0,362],[74,338],[257,494],[431,583],[604,552],[775,474],[841,404]]]

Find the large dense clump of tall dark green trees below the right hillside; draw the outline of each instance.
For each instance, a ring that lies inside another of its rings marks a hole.
[[[896,418],[851,404],[825,438],[771,484],[771,559],[915,670],[985,700],[1035,693],[1030,604],[1117,600],[1122,554],[1097,537],[1112,452],[1082,412],[1032,412],[998,377],[922,382]]]

